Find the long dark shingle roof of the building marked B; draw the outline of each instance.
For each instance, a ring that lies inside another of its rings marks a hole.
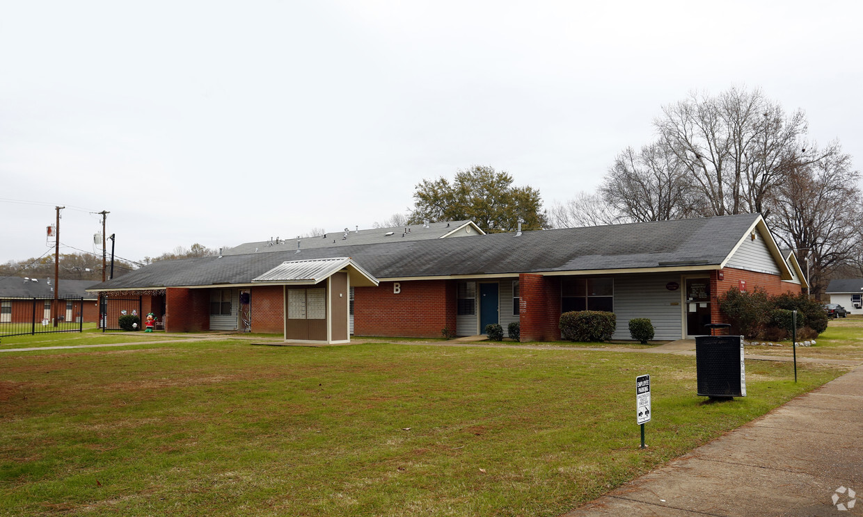
[[[759,215],[581,227],[469,239],[387,242],[301,253],[157,262],[96,287],[144,289],[249,283],[286,260],[350,257],[377,278],[720,265]]]

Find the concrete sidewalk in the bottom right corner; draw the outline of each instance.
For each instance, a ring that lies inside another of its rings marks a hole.
[[[863,367],[565,517],[863,515],[847,489],[863,498]]]

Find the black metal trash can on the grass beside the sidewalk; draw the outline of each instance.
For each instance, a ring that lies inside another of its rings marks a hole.
[[[708,327],[729,326],[714,323]],[[696,375],[698,396],[746,396],[743,336],[696,336]]]

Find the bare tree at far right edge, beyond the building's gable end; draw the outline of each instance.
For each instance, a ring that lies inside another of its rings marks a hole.
[[[772,215],[778,239],[798,250],[801,263],[809,258],[811,291],[819,294],[835,271],[859,260],[863,247],[860,173],[838,144],[830,147],[830,156],[791,167]]]

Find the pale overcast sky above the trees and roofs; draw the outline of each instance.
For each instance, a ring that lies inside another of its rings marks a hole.
[[[692,90],[863,159],[863,3],[0,0],[0,262],[371,227],[423,178],[594,190]],[[109,243],[110,246],[110,243]],[[53,250],[53,248],[52,248]]]

